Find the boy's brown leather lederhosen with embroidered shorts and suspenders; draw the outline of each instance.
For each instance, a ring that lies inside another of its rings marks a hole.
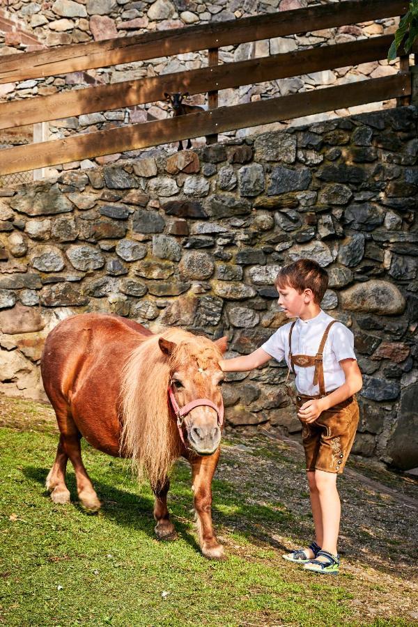
[[[308,368],[315,366],[313,385],[318,385],[319,394],[307,396],[297,392],[295,403],[300,408],[306,401],[313,398],[323,398],[331,394],[334,390],[326,392],[323,350],[327,341],[330,328],[337,320],[332,320],[320,341],[318,353],[316,355],[293,355],[292,353],[292,332],[295,322],[292,323],[289,331],[289,354],[288,354],[288,376],[295,366]],[[350,396],[346,401],[334,405],[329,410],[324,410],[318,418],[311,423],[300,420],[302,423],[302,442],[304,447],[307,470],[325,470],[341,474],[344,465],[353,446],[357,424],[359,421],[359,408],[354,396]]]

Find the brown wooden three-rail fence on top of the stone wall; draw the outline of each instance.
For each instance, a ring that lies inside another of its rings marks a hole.
[[[216,140],[219,132],[391,98],[398,98],[399,104],[408,104],[411,93],[409,56],[403,56],[401,70],[394,76],[217,108],[220,89],[385,59],[393,36],[223,65],[218,65],[219,47],[394,17],[406,10],[408,1],[348,0],[339,3],[338,8],[332,3],[234,22],[191,26],[169,33],[160,31],[5,56],[1,63],[0,84],[204,49],[208,49],[208,67],[1,103],[0,129],[157,102],[164,100],[166,91],[208,93],[209,110],[1,150],[0,174],[40,169],[189,137],[206,135],[211,142]]]

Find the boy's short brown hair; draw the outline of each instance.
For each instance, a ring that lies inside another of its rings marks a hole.
[[[293,287],[300,294],[310,289],[314,301],[320,304],[328,287],[328,273],[316,261],[299,259],[284,265],[277,274],[276,287],[283,289],[286,286]]]

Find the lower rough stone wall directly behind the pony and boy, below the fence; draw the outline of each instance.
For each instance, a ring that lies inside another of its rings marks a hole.
[[[364,373],[355,451],[418,465],[417,109],[233,139],[0,189],[0,391],[42,397],[47,332],[82,311],[181,325],[247,354],[286,318],[273,287],[297,258]],[[231,373],[229,426],[297,437],[272,361]]]

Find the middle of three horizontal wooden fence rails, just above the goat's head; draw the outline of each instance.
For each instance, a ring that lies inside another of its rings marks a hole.
[[[0,129],[165,100],[164,92],[239,87],[385,59],[393,35],[0,103]]]

